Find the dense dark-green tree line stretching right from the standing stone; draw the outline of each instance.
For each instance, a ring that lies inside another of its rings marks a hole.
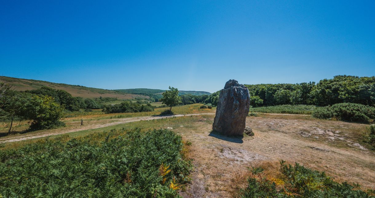
[[[337,103],[358,103],[375,106],[375,76],[340,75],[333,79],[297,84],[245,85],[251,95],[251,105],[312,104],[327,106]]]

